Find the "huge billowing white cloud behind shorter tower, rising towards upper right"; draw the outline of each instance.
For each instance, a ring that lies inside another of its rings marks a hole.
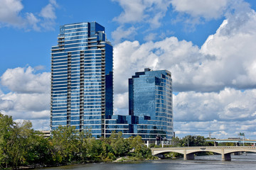
[[[175,37],[141,45],[137,41],[115,45],[114,69],[119,72],[114,77],[120,80],[115,81],[117,91],[126,91],[126,80],[144,67],[169,69],[174,79],[174,91],[255,88],[255,27],[255,11],[245,10],[234,12],[223,21],[201,49]]]

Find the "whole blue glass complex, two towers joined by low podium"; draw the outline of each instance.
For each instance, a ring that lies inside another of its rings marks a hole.
[[[113,54],[105,28],[96,22],[60,26],[51,50],[50,128],[72,125],[92,136],[174,134],[172,79],[167,70],[136,72],[129,79],[129,115],[113,115]]]

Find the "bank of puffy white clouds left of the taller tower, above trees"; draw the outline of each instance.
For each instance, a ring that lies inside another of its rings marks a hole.
[[[32,67],[7,69],[1,85],[11,90],[0,91],[1,113],[12,115],[16,121],[31,120],[33,128],[49,129],[50,73],[36,73]]]

